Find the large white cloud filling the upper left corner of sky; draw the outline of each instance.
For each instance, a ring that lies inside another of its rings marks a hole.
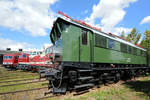
[[[0,0],[0,26],[26,30],[32,36],[47,35],[56,14],[50,6],[58,0]]]

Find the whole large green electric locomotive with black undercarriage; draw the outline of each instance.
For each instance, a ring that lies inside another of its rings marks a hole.
[[[50,39],[55,67],[46,78],[54,94],[149,71],[144,48],[77,21],[57,18]]]

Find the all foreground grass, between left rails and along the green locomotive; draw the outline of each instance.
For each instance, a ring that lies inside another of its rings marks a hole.
[[[5,75],[8,71],[4,68],[0,68],[0,75]],[[14,71],[13,71],[14,72]],[[10,81],[10,80],[18,80],[18,79],[29,79],[29,78],[38,78],[38,75],[28,75],[29,72],[25,74],[25,72],[18,72],[16,75],[21,76],[21,78],[13,78],[15,75],[12,75],[12,79],[5,78],[1,81]],[[33,73],[35,74],[35,73]],[[11,76],[11,72],[9,71],[7,75]],[[23,77],[24,76],[24,77]],[[20,82],[10,82],[20,83]],[[8,83],[8,84],[10,84]],[[7,84],[7,83],[5,83]],[[0,93],[2,92],[10,92],[24,89],[33,89],[47,86],[48,82],[40,82],[40,83],[32,83],[32,84],[24,84],[24,85],[16,85],[9,87],[0,87]],[[2,85],[2,84],[0,84]],[[18,93],[13,95],[4,95],[0,96],[0,100],[33,100],[40,96],[43,96],[46,90],[33,91],[33,92],[25,92]],[[22,98],[21,98],[22,97]],[[150,76],[147,77],[139,77],[136,80],[127,81],[123,84],[121,82],[117,84],[110,84],[108,86],[100,85],[100,88],[92,88],[89,92],[74,96],[74,93],[68,93],[66,95],[62,95],[59,97],[49,98],[47,100],[150,100]]]

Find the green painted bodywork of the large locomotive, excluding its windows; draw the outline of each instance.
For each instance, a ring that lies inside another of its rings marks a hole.
[[[141,50],[137,49],[137,55],[120,52],[120,43],[117,41],[114,41],[115,45],[113,49],[108,49],[108,44],[106,48],[95,47],[95,33],[92,33],[90,30],[87,30],[88,43],[87,45],[83,45],[82,28],[80,26],[76,26],[70,23],[70,25],[65,27],[65,29],[62,31],[62,23],[68,24],[68,22],[59,19],[56,21],[56,23],[57,28],[56,30],[54,29],[53,32],[55,33],[54,36],[61,32],[63,44],[63,61],[79,62],[80,60],[80,62],[91,62],[91,57],[93,54],[94,58],[92,59],[95,63],[146,64],[146,57],[141,56]],[[56,39],[57,38],[54,40]],[[94,50],[94,52],[91,50]],[[129,48],[127,48],[127,51],[129,52]]]

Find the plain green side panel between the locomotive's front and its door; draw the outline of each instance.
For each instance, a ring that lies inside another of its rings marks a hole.
[[[79,36],[81,29],[70,25],[67,31],[62,33],[63,61],[79,61]]]

